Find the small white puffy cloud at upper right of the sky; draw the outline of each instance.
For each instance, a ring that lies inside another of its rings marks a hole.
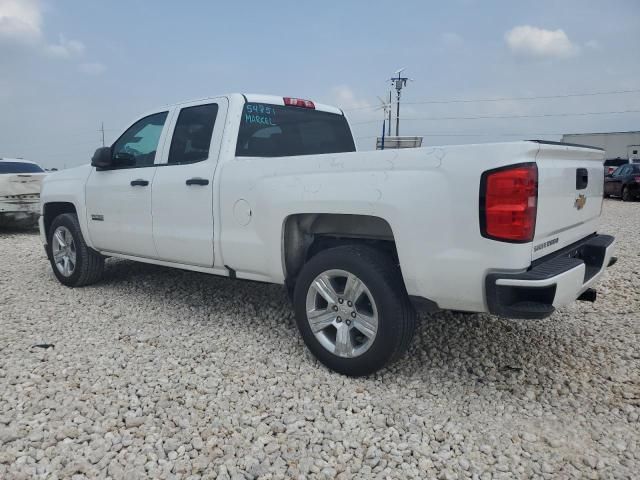
[[[505,33],[504,39],[511,52],[523,57],[567,58],[580,50],[561,29],[545,30],[520,25]]]

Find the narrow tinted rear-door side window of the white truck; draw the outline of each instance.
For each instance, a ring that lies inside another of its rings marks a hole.
[[[218,105],[198,105],[180,111],[169,149],[169,163],[201,162],[209,158],[209,145]]]

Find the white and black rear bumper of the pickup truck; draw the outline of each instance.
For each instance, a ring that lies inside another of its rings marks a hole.
[[[598,281],[614,245],[610,235],[591,235],[536,260],[525,272],[490,273],[485,280],[489,312],[509,318],[548,317]]]

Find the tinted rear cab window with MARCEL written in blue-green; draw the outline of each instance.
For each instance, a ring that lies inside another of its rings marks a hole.
[[[343,115],[264,103],[244,106],[236,145],[238,157],[288,157],[355,150]]]

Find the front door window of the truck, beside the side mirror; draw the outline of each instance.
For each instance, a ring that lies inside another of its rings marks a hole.
[[[167,113],[156,113],[138,120],[116,140],[111,149],[115,168],[153,165]]]

